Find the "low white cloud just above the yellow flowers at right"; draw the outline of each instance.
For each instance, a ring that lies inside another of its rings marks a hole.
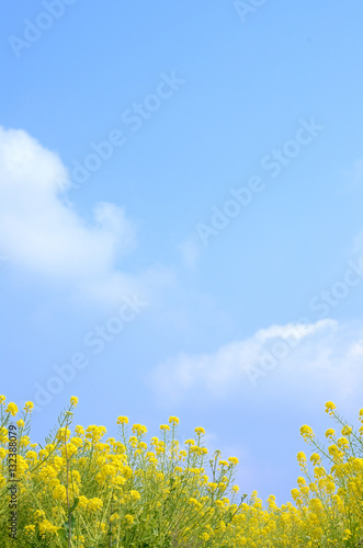
[[[173,401],[191,395],[212,399],[268,395],[279,399],[290,387],[297,397],[310,390],[356,393],[362,379],[363,326],[333,320],[272,326],[215,352],[179,354],[160,364],[151,385]]]

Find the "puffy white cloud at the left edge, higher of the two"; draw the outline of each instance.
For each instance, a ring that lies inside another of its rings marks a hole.
[[[134,276],[115,266],[135,247],[135,225],[109,203],[97,204],[87,222],[59,189],[68,179],[57,153],[23,130],[0,127],[1,252],[23,271],[71,284],[88,297],[115,301],[140,290],[148,273]]]

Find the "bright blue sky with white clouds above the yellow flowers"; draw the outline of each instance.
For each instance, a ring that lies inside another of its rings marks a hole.
[[[322,436],[327,400],[354,420],[362,16],[311,0],[3,9],[1,392],[38,400],[35,437],[72,395],[78,422],[110,432],[178,414],[181,437],[203,425],[239,457],[242,492],[283,503],[299,426]]]

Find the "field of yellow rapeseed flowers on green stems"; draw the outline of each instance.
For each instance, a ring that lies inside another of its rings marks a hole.
[[[325,444],[300,429],[311,450],[298,453],[294,503],[281,507],[273,495],[240,496],[238,459],[208,455],[202,427],[180,442],[177,416],[154,437],[118,416],[115,439],[104,426],[75,425],[72,397],[41,445],[30,437],[33,403],[19,413],[0,402],[3,548],[363,546],[363,426],[347,424],[332,402]]]

